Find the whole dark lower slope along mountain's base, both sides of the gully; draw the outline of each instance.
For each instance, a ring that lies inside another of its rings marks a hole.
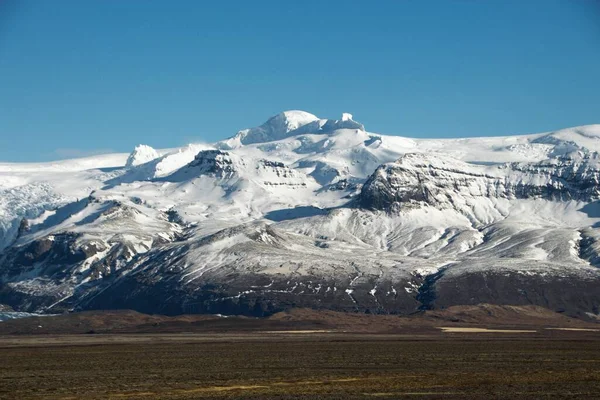
[[[335,287],[319,277],[303,277],[290,286],[272,277],[244,275],[224,282],[208,279],[185,287],[175,279],[149,280],[143,275],[126,277],[107,289],[91,291],[78,305],[81,309],[134,309],[145,313],[225,314],[268,316],[295,307],[344,312],[409,315],[422,310],[443,309],[453,305],[480,303],[498,305],[539,305],[571,316],[598,313],[600,279],[531,277],[518,273],[472,272],[425,282],[383,283],[372,293],[372,286],[358,285],[351,291],[318,292],[315,283]],[[424,284],[423,290],[407,292],[402,287]],[[400,287],[400,290],[393,288]],[[168,294],[168,295],[167,295]]]

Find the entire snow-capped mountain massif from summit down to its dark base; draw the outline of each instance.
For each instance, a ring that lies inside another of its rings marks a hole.
[[[0,304],[265,315],[600,307],[600,125],[417,140],[287,111],[213,144],[0,164]]]

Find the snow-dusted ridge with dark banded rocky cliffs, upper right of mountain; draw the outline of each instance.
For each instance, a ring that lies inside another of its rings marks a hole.
[[[475,207],[477,198],[592,202],[600,196],[599,159],[596,152],[575,152],[541,162],[486,166],[407,153],[374,172],[360,201],[370,209],[424,203],[463,211]]]

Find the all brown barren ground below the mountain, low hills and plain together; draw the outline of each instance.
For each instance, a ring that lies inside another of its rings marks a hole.
[[[0,328],[1,399],[600,393],[599,325],[530,307],[481,305],[410,318],[311,310],[268,319],[91,312]]]

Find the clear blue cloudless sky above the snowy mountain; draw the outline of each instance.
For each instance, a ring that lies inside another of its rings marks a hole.
[[[0,0],[0,160],[214,141],[286,109],[412,137],[600,123],[589,0]]]

